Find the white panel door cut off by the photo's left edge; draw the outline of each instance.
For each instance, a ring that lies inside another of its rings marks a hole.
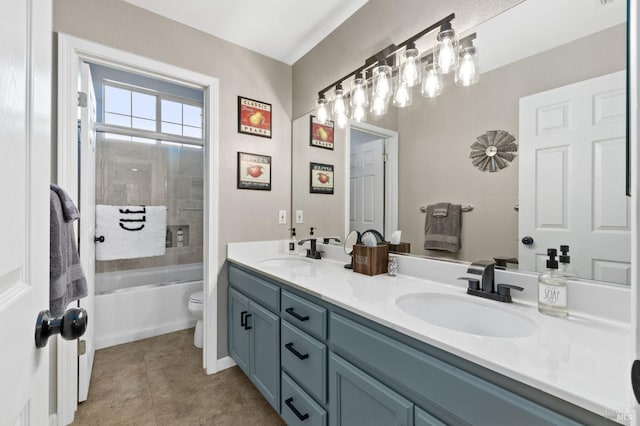
[[[0,425],[49,424],[51,1],[0,2]],[[55,338],[55,337],[54,337]]]

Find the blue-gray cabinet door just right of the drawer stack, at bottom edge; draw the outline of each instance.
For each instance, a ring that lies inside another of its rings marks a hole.
[[[331,426],[413,426],[413,403],[334,353],[329,405]]]

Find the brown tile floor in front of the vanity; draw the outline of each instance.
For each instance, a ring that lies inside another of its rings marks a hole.
[[[238,367],[205,374],[193,330],[97,351],[73,425],[284,425]]]

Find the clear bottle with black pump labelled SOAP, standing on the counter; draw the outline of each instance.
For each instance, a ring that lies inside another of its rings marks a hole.
[[[547,249],[547,270],[538,277],[538,311],[545,315],[566,318],[567,279],[558,271],[556,249]]]

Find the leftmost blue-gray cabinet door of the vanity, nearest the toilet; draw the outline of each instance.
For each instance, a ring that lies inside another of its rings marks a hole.
[[[245,326],[246,316],[249,315],[249,299],[229,288],[229,355],[238,366],[249,375],[249,334]]]

